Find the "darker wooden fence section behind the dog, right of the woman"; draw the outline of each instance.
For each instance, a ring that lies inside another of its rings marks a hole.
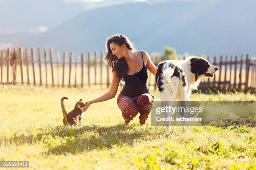
[[[219,68],[218,72],[213,78],[201,79],[200,90],[221,90],[221,91],[256,91],[256,58],[249,58],[241,55],[238,56],[214,56],[206,59]],[[158,63],[159,61],[154,61]],[[153,75],[154,76],[154,75]],[[150,78],[150,77],[149,77]],[[154,89],[156,90],[156,82],[154,82]]]

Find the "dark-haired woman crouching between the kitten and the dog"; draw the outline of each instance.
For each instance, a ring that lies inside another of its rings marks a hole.
[[[133,44],[125,35],[108,37],[106,50],[105,62],[112,67],[113,74],[110,90],[94,100],[85,102],[86,107],[114,98],[120,80],[124,80],[125,85],[118,95],[117,103],[125,125],[128,125],[138,112],[141,125],[145,124],[154,101],[154,96],[148,88],[147,68],[156,75],[157,67],[146,51],[135,51]]]

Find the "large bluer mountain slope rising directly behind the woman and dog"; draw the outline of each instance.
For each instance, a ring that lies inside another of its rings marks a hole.
[[[256,2],[241,0],[163,1],[112,5],[85,11],[17,45],[87,52],[105,50],[115,33],[138,50],[178,54],[256,55]]]

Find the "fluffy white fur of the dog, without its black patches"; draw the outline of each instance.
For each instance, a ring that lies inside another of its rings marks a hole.
[[[162,67],[163,73],[159,75],[159,78],[157,80],[158,82],[161,81],[163,83],[161,87],[164,90],[162,92],[159,92],[159,97],[161,101],[174,101],[174,100],[189,101],[189,95],[191,94],[191,91],[197,90],[197,87],[200,84],[200,80],[204,77],[207,77],[204,74],[199,75],[196,81],[195,74],[192,73],[191,71],[190,59],[192,59],[193,57],[187,57],[185,60],[166,60],[165,61]],[[172,77],[172,75],[174,74],[174,67],[167,67],[170,63],[179,67],[179,69],[183,70],[185,74],[184,79],[186,81],[185,86],[182,85],[183,82],[181,77],[176,77],[176,76]],[[213,75],[215,72],[217,72],[215,68],[217,67],[210,65],[206,73],[210,73]],[[168,115],[168,113],[165,113],[165,116],[167,117],[171,115]],[[166,125],[166,130],[172,132],[170,122],[169,121],[166,122],[165,125]],[[186,122],[182,122],[182,132],[188,133]]]

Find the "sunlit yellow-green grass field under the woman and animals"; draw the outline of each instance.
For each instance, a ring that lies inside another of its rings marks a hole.
[[[256,127],[145,129],[138,116],[128,127],[114,99],[95,103],[81,127],[62,125],[76,101],[99,97],[107,88],[44,88],[0,85],[0,161],[29,161],[33,169],[255,169]],[[119,91],[118,91],[119,92]],[[159,100],[157,92],[152,92]],[[255,100],[243,93],[192,94],[191,100]]]

